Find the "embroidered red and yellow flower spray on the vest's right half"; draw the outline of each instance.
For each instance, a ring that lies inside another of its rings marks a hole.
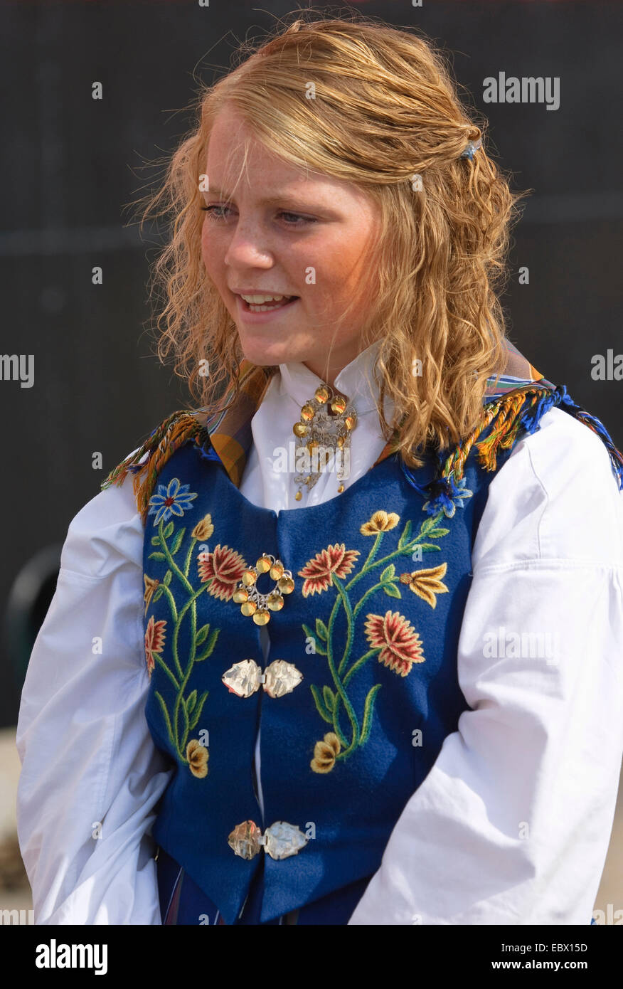
[[[374,705],[381,683],[375,683],[368,691],[363,711],[357,712],[349,696],[349,683],[353,676],[360,671],[368,660],[377,656],[379,663],[400,676],[410,673],[414,663],[424,663],[421,640],[410,622],[399,611],[387,611],[385,615],[368,613],[364,623],[364,632],[370,649],[354,661],[351,658],[355,625],[359,612],[371,594],[383,590],[389,597],[401,597],[401,589],[397,583],[396,565],[392,562],[401,556],[412,557],[415,548],[419,552],[439,551],[440,547],[430,542],[445,536],[449,529],[440,528],[439,522],[443,517],[440,509],[434,517],[426,518],[420,525],[416,536],[411,536],[411,522],[406,521],[396,548],[386,556],[377,559],[382,541],[400,523],[400,515],[396,512],[383,510],[375,511],[360,528],[364,536],[376,536],[372,549],[359,573],[351,577],[348,584],[342,584],[355,566],[359,550],[347,550],[345,545],[334,544],[316,553],[299,576],[306,579],[303,586],[304,595],[318,593],[335,588],[335,602],[327,624],[320,618],[315,619],[312,631],[303,625],[303,631],[311,638],[314,652],[326,659],[331,685],[325,684],[320,689],[312,684],[311,691],[316,710],[323,721],[331,725],[332,731],[327,732],[323,739],[316,742],[313,749],[311,767],[313,772],[330,772],[336,763],[348,757],[359,747],[365,745],[370,735]],[[377,583],[372,584],[353,603],[352,592],[355,585],[376,568],[382,568]],[[408,581],[409,588],[434,607],[435,594],[447,591],[441,578],[445,576],[447,564],[429,570],[414,571],[404,574],[399,579],[402,584]],[[432,600],[431,600],[432,598]],[[337,643],[333,637],[333,626],[337,613],[343,607],[347,633],[346,643],[341,658],[337,655]],[[350,664],[350,665],[349,665]],[[348,721],[348,729],[342,728],[344,719]]]

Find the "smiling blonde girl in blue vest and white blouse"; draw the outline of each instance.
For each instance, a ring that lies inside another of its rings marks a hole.
[[[202,93],[148,205],[198,405],[72,520],[22,696],[37,923],[590,922],[623,457],[504,336],[515,200],[377,22]]]

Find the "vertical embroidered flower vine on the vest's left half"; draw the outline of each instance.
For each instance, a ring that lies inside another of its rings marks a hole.
[[[209,624],[197,628],[197,599],[205,590],[211,590],[212,593],[215,591],[211,589],[212,578],[208,576],[202,579],[202,584],[198,589],[195,589],[189,580],[189,573],[198,540],[203,541],[212,535],[214,526],[211,516],[206,515],[191,533],[185,559],[183,561],[179,559],[186,528],[175,531],[171,521],[165,525],[164,523],[168,519],[166,513],[168,511],[178,516],[183,515],[185,511],[193,507],[190,501],[197,495],[189,494],[189,485],[181,486],[177,478],[173,478],[168,486],[159,485],[158,488],[159,494],[154,494],[149,499],[148,514],[155,512],[153,524],[157,526],[157,535],[151,537],[151,545],[154,549],[149,554],[148,559],[166,562],[167,571],[161,581],[144,575],[144,597],[146,606],[152,601],[157,601],[162,595],[166,597],[171,612],[170,653],[173,659],[172,667],[167,666],[160,656],[164,645],[166,621],[154,621],[153,615],[149,617],[145,631],[145,656],[149,675],[151,676],[157,662],[175,688],[175,702],[172,710],[168,709],[164,697],[158,690],[155,691],[154,696],[160,705],[169,741],[177,752],[180,762],[188,765],[193,775],[201,779],[208,774],[208,751],[196,739],[189,741],[188,736],[199,722],[208,697],[208,690],[198,696],[197,690],[188,692],[188,687],[195,664],[212,656],[220,629],[211,631]],[[227,548],[224,547],[224,549]],[[232,553],[233,551],[228,550],[227,552]],[[198,559],[206,555],[200,553]],[[212,556],[212,554],[209,555]],[[237,556],[237,554],[235,555]],[[170,589],[170,584],[174,580],[181,585],[186,597],[181,606],[178,604],[179,598],[176,601]],[[179,635],[183,622],[190,622],[191,645],[190,649],[185,651],[183,656],[180,656]]]

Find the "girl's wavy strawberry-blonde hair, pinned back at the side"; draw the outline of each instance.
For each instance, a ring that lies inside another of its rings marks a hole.
[[[378,205],[376,292],[361,349],[381,338],[379,421],[386,439],[396,431],[404,463],[419,467],[422,444],[444,449],[477,426],[487,380],[503,372],[498,291],[520,195],[485,147],[473,160],[461,157],[486,124],[470,119],[441,52],[409,31],[354,12],[298,11],[235,57],[237,67],[202,85],[196,126],[142,213],[141,228],[163,216],[169,224],[150,283],[158,357],[173,355],[209,420],[235,400],[243,353],[201,255],[199,177],[215,117],[227,107],[285,161],[350,181]]]

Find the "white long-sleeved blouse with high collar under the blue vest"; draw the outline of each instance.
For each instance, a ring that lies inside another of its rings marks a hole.
[[[345,487],[386,442],[364,374],[373,356],[335,380],[358,414]],[[327,473],[296,501],[292,475],[272,470],[318,384],[280,365],[253,417],[240,491],[262,507],[339,496]],[[132,479],[84,505],[31,657],[18,833],[37,924],[161,923],[150,830],[174,770],[144,718],[142,539]],[[568,412],[546,412],[497,471],[472,566],[457,655],[471,709],[349,924],[590,923],[623,756],[623,493]],[[544,635],[551,655],[516,657],[513,633]],[[256,768],[261,786],[259,747]]]

